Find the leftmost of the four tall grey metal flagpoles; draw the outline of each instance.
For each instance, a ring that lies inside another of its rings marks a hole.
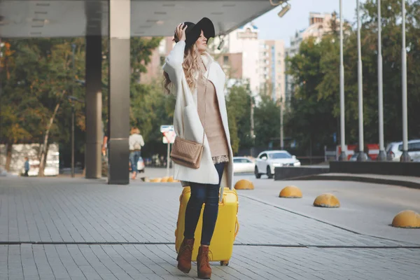
[[[346,156],[346,130],[344,123],[344,59],[343,59],[343,0],[339,0],[339,113],[340,113],[340,161],[347,160]]]

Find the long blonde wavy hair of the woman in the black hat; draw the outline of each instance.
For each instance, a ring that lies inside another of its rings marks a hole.
[[[177,36],[174,36],[174,41],[178,43],[179,39]],[[186,75],[188,87],[190,87],[191,92],[195,90],[197,87],[198,80],[203,78],[203,73],[200,71],[200,62],[201,56],[200,52],[198,52],[197,45],[194,43],[189,48],[186,48],[184,51],[184,59],[182,68]],[[163,88],[165,92],[171,92],[171,87],[173,83],[169,79],[169,75],[167,72],[163,72]]]

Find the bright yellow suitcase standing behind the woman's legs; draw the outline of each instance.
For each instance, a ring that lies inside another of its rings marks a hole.
[[[179,214],[175,230],[175,248],[176,253],[179,252],[179,247],[183,241],[183,232],[185,227],[185,216],[188,200],[190,200],[190,187],[183,188],[182,194],[179,197]],[[235,189],[221,188],[221,196],[219,200],[218,218],[216,221],[216,228],[214,235],[211,238],[209,254],[211,261],[220,261],[221,265],[228,265],[230,257],[232,256],[233,242],[239,231],[238,223],[238,195]],[[197,260],[198,248],[200,247],[201,232],[202,232],[202,216],[204,211],[204,204],[200,214],[197,228],[195,230],[195,243],[193,251],[193,261]]]

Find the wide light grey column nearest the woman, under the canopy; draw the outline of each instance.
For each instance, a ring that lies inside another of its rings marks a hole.
[[[109,184],[130,183],[130,0],[109,0]]]

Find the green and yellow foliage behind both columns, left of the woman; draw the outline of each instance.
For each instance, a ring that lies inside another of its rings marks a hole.
[[[161,38],[132,38],[132,105],[136,106],[132,124],[140,127],[152,121],[135,122],[144,118],[144,110],[153,99],[153,94],[159,92],[157,85],[139,85],[140,73],[146,72],[146,64]],[[85,141],[85,108],[84,103],[71,103],[68,96],[80,100],[85,99],[85,88],[76,80],[85,80],[85,38],[31,38],[8,39],[1,52],[1,121],[0,134],[3,143],[43,143],[45,129],[50,122],[52,113],[59,104],[50,130],[51,142],[58,142],[63,155],[69,155],[71,134],[71,106],[76,112],[76,161],[83,160]],[[75,67],[73,75],[73,53],[71,45],[75,44]],[[103,117],[106,127],[108,115],[108,57],[109,41],[104,39],[102,55],[103,73]],[[162,93],[160,93],[162,95]],[[144,98],[144,101],[142,100]],[[166,98],[162,98],[167,103]],[[160,106],[154,104],[153,108]],[[169,108],[169,107],[168,107]],[[158,110],[159,111],[159,110]],[[155,114],[159,114],[154,112]],[[170,113],[169,113],[170,116]],[[79,153],[79,157],[77,155]],[[79,159],[78,159],[79,158]]]

